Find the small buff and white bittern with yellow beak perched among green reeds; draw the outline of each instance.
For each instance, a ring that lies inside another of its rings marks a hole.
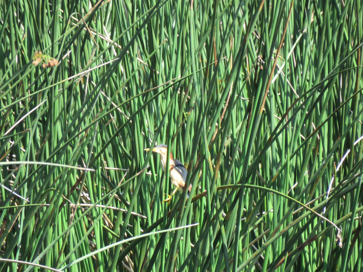
[[[145,148],[145,151],[149,151],[150,148]],[[164,171],[164,173],[166,173],[166,169],[167,169],[167,165],[166,165],[166,161],[167,161],[167,152],[168,152],[168,147],[166,144],[159,144],[158,146],[154,147],[152,149],[153,152],[159,153],[160,154],[160,159],[161,159],[161,167]],[[170,157],[169,157],[169,176],[171,179],[171,184],[174,185],[176,188],[174,189],[174,191],[171,193],[171,195],[168,195],[168,198],[166,198],[163,202],[170,202],[172,196],[176,193],[177,190],[179,191],[183,191],[184,187],[185,187],[185,181],[187,180],[187,174],[188,171],[185,168],[185,166],[181,163],[181,161],[173,158],[173,154],[170,152]],[[189,193],[192,189],[192,185],[190,184],[188,186],[188,196]],[[165,194],[166,195],[166,194]]]

